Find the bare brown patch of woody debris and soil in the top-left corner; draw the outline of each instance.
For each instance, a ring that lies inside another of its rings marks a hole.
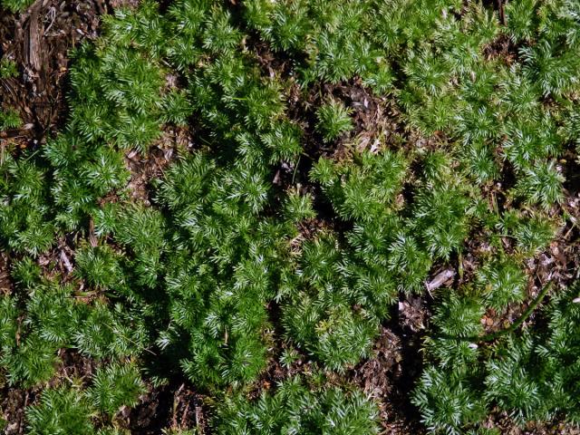
[[[37,0],[22,14],[0,10],[0,54],[13,60],[19,73],[0,81],[0,103],[23,120],[5,136],[34,146],[62,124],[69,50],[96,37],[99,15],[106,10],[103,0]]]

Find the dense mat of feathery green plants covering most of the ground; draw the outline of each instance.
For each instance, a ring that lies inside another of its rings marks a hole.
[[[574,291],[527,301],[527,265],[565,222],[580,23],[570,2],[505,15],[180,0],[103,16],[74,51],[63,131],[2,139],[0,374],[43,390],[31,433],[120,433],[141,372],[187,377],[218,433],[373,433],[375,404],[345,385],[411,295],[432,301],[411,394],[429,430],[471,433],[494,409],[577,422]],[[99,370],[54,386],[67,349]],[[304,373],[248,400],[278,364]]]

